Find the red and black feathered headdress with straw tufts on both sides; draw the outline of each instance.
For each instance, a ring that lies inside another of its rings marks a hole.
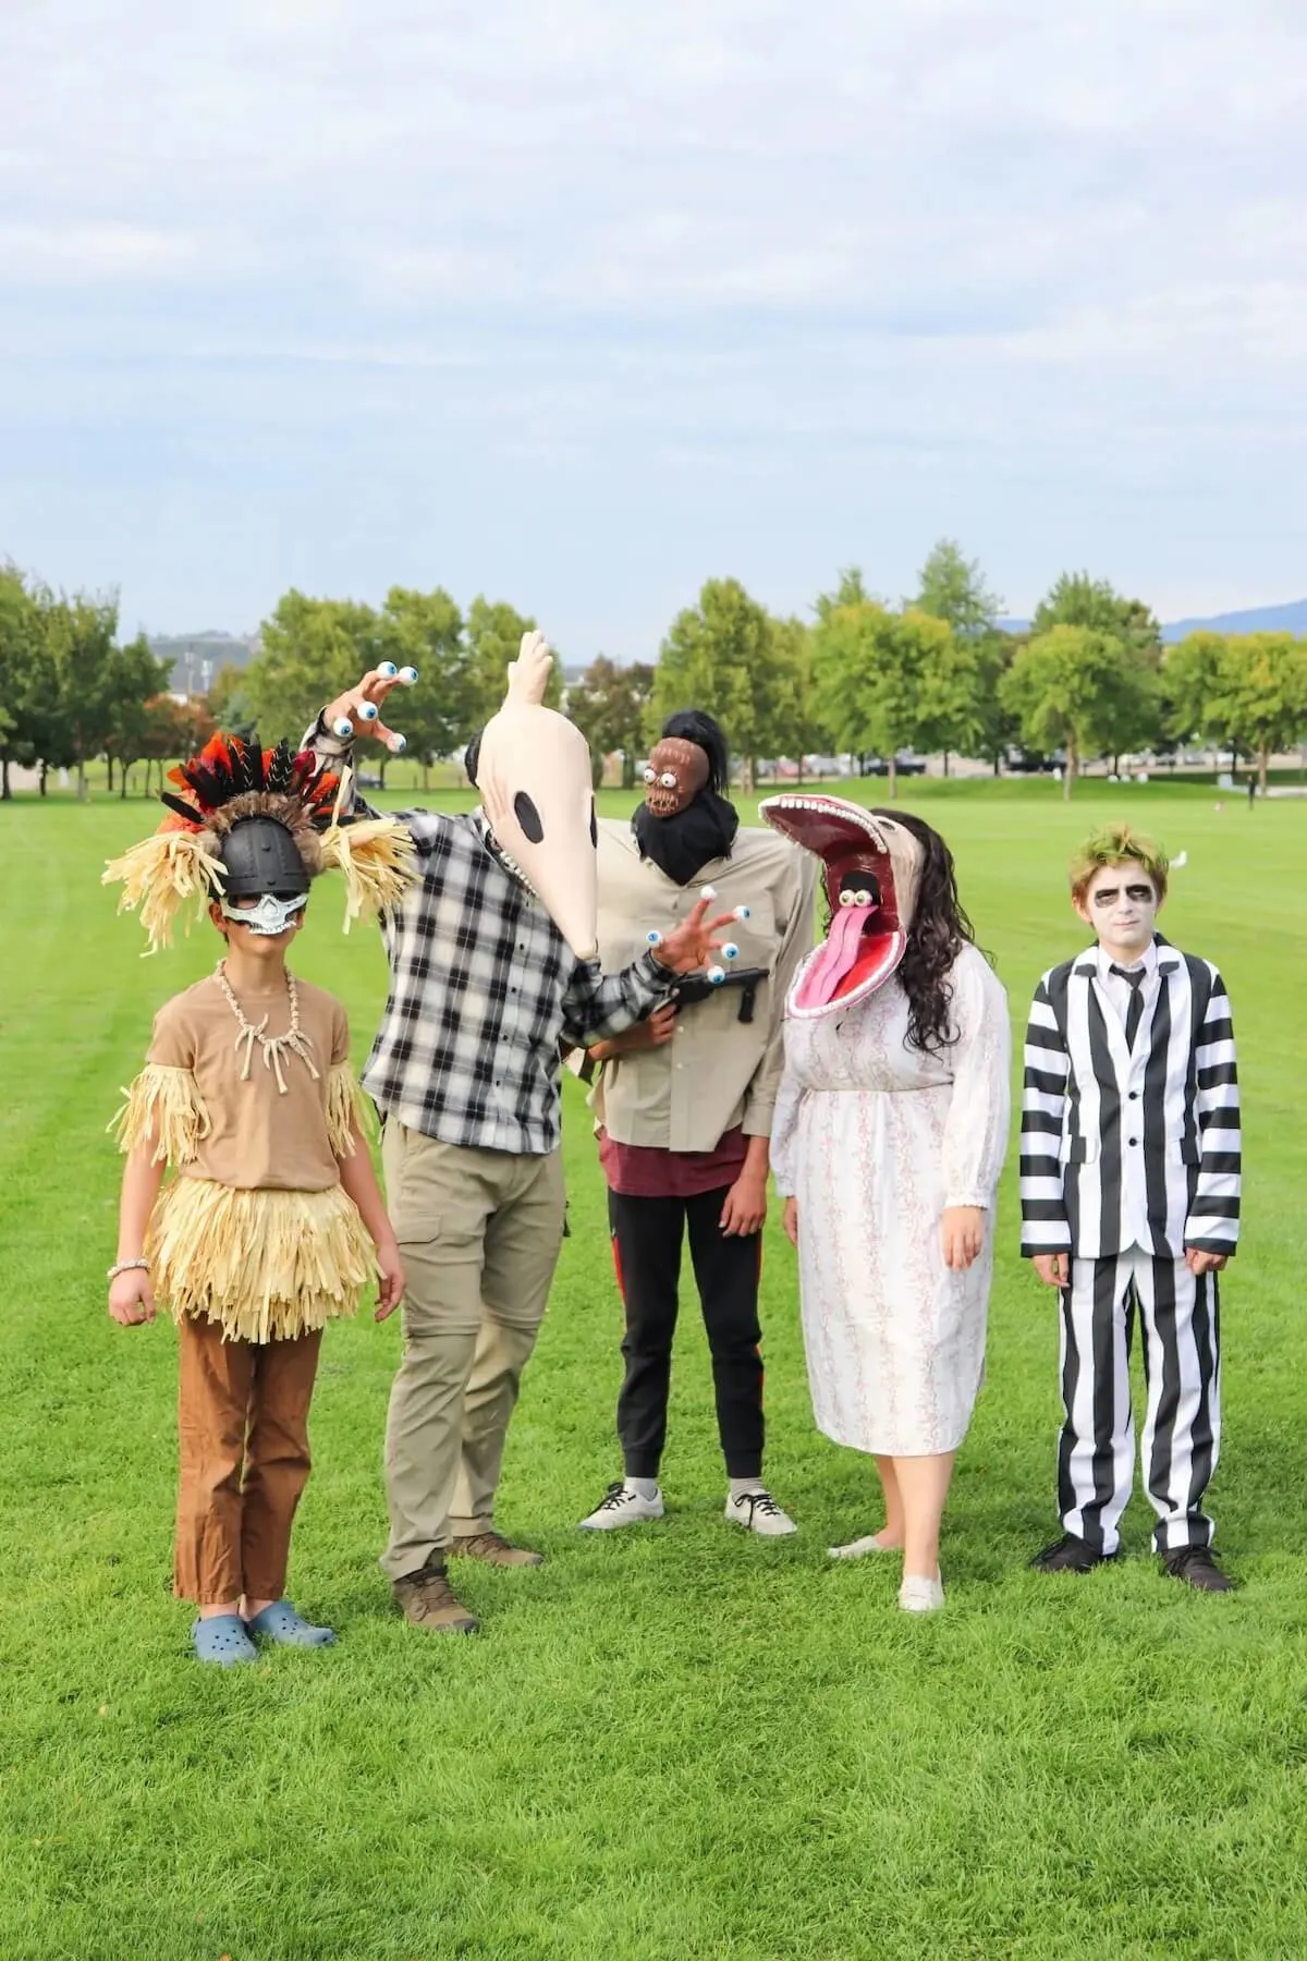
[[[178,912],[202,918],[221,900],[227,867],[223,843],[247,818],[263,818],[290,833],[304,875],[345,877],[345,931],[353,920],[388,912],[415,873],[413,839],[394,818],[353,822],[341,816],[349,777],[317,775],[317,757],[290,743],[259,749],[239,735],[214,735],[200,755],[169,771],[176,792],[165,790],[169,816],[151,837],[112,859],[102,884],[123,886],[120,912],[139,912],[149,953],[167,947]]]

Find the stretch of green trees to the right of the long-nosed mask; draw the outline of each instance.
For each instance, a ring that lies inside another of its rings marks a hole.
[[[670,708],[723,720],[752,780],[760,757],[1058,755],[1070,796],[1086,761],[1182,743],[1268,759],[1307,739],[1307,641],[1193,633],[1170,647],[1142,600],[1088,573],[1062,575],[1029,629],[999,628],[978,565],[941,541],[911,600],[890,604],[847,571],[813,620],[778,620],[733,580],[678,614],[656,667],[596,661],[568,698],[596,751],[627,757]]]

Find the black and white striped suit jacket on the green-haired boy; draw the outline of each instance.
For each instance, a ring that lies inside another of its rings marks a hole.
[[[1238,1075],[1225,982],[1162,935],[1131,1055],[1097,949],[1035,990],[1021,1104],[1021,1251],[1099,1259],[1142,1245],[1233,1253]]]

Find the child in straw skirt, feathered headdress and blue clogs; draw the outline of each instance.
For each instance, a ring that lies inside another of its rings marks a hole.
[[[282,1596],[321,1330],[355,1312],[372,1271],[378,1320],[404,1292],[345,1010],[296,980],[286,949],[319,871],[345,873],[349,928],[396,904],[411,845],[390,820],[339,824],[339,780],[286,743],[261,751],[216,735],[172,782],[170,816],[104,880],[123,882],[120,910],[139,908],[151,953],[188,900],[225,953],[155,1016],[116,1120],[127,1165],[110,1314],[123,1328],[151,1322],[159,1298],[176,1320],[174,1590],[198,1606],[200,1659],[231,1665],[255,1659],[253,1637],[335,1639]]]

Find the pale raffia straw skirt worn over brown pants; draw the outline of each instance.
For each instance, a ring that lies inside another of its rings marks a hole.
[[[218,1322],[227,1339],[308,1333],[359,1306],[376,1255],[339,1184],[325,1192],[243,1192],[174,1179],[145,1241],[155,1292],[172,1320]]]

